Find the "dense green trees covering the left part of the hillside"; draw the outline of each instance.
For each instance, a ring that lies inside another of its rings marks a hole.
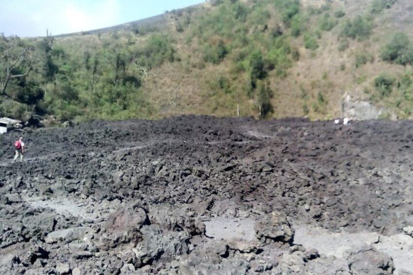
[[[49,33],[40,39],[1,36],[1,115],[23,118],[33,111],[61,120],[147,116],[141,86],[148,71],[174,62],[167,35],[145,43],[90,36],[66,43]],[[136,113],[138,111],[139,113]]]

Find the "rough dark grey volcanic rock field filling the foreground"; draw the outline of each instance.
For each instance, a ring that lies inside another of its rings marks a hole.
[[[2,135],[0,274],[413,274],[413,122]]]

